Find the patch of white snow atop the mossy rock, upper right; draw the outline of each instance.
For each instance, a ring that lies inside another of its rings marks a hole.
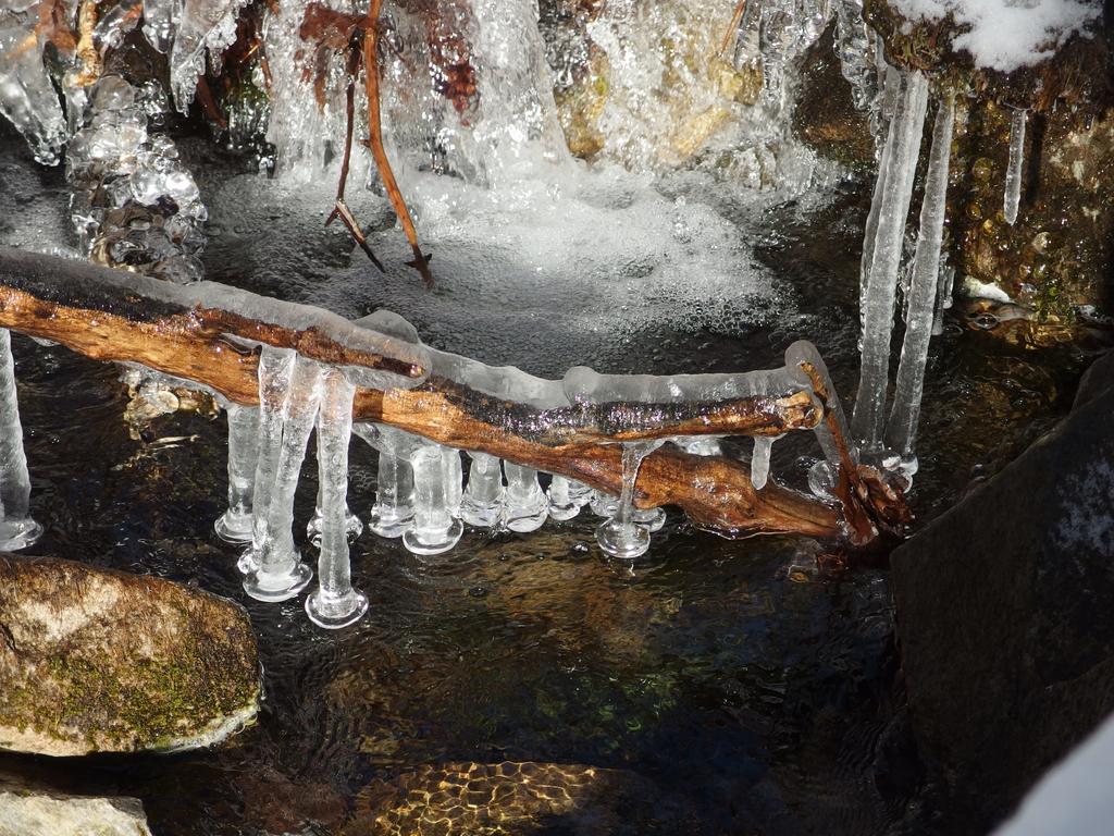
[[[967,31],[952,41],[970,52],[975,66],[1013,72],[1055,55],[1073,35],[1102,14],[1085,0],[893,0],[908,20],[941,20],[951,14]]]

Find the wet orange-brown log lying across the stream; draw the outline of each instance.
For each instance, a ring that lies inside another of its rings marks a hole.
[[[258,402],[257,344],[295,349],[393,381],[359,389],[355,420],[389,424],[616,494],[622,486],[617,440],[781,435],[810,429],[824,418],[807,389],[716,404],[541,409],[433,373],[424,364],[431,357],[424,347],[384,338],[328,311],[209,282],[174,285],[6,249],[0,249],[0,327],[94,359],[139,363],[244,405]],[[695,524],[729,536],[843,534],[838,508],[773,483],[756,490],[742,463],[692,456],[670,445],[644,460],[635,502],[676,505]]]

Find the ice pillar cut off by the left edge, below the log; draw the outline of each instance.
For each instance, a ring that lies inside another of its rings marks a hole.
[[[41,534],[42,526],[31,519],[31,477],[16,397],[11,333],[0,328],[0,551],[29,546]]]

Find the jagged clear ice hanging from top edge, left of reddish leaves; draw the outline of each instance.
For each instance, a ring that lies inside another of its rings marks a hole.
[[[170,49],[170,90],[182,113],[189,111],[206,55],[219,72],[224,50],[236,39],[236,18],[246,4],[247,0],[182,0]]]

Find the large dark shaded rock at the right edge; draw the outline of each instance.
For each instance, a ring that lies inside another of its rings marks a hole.
[[[987,818],[1114,711],[1111,416],[1114,354],[1055,430],[892,557],[918,745]]]

